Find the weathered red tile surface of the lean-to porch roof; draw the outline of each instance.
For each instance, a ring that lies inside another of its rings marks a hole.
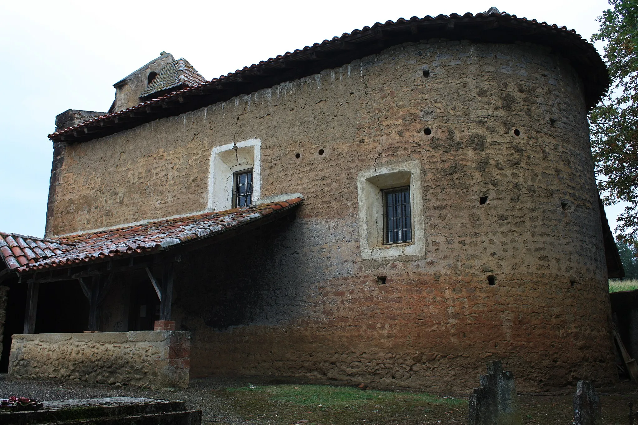
[[[97,263],[110,257],[152,254],[225,233],[269,215],[285,215],[302,198],[219,212],[155,220],[115,229],[67,234],[59,240],[0,232],[0,256],[15,273]]]

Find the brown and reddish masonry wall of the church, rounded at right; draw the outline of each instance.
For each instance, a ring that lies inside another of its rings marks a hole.
[[[204,210],[212,148],[255,138],[262,196],[304,203],[292,224],[182,257],[193,373],[470,389],[503,359],[523,389],[614,377],[582,82],[551,49],[405,43],[65,145],[47,236]],[[366,259],[357,176],[406,161],[424,249]]]

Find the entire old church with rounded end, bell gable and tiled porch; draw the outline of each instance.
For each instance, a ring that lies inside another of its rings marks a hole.
[[[191,377],[616,376],[587,120],[609,78],[574,30],[413,17],[210,81],[163,52],[114,87],[56,117],[44,237],[0,233],[5,370],[13,334],[175,329]]]

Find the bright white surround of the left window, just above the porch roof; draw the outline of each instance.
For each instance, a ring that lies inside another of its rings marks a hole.
[[[232,208],[234,173],[253,169],[253,205],[262,192],[262,141],[249,139],[212,148],[208,178],[208,211]]]

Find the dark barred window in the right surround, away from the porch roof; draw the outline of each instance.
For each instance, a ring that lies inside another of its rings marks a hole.
[[[383,192],[385,212],[385,243],[412,241],[412,217],[410,212],[410,187]]]

